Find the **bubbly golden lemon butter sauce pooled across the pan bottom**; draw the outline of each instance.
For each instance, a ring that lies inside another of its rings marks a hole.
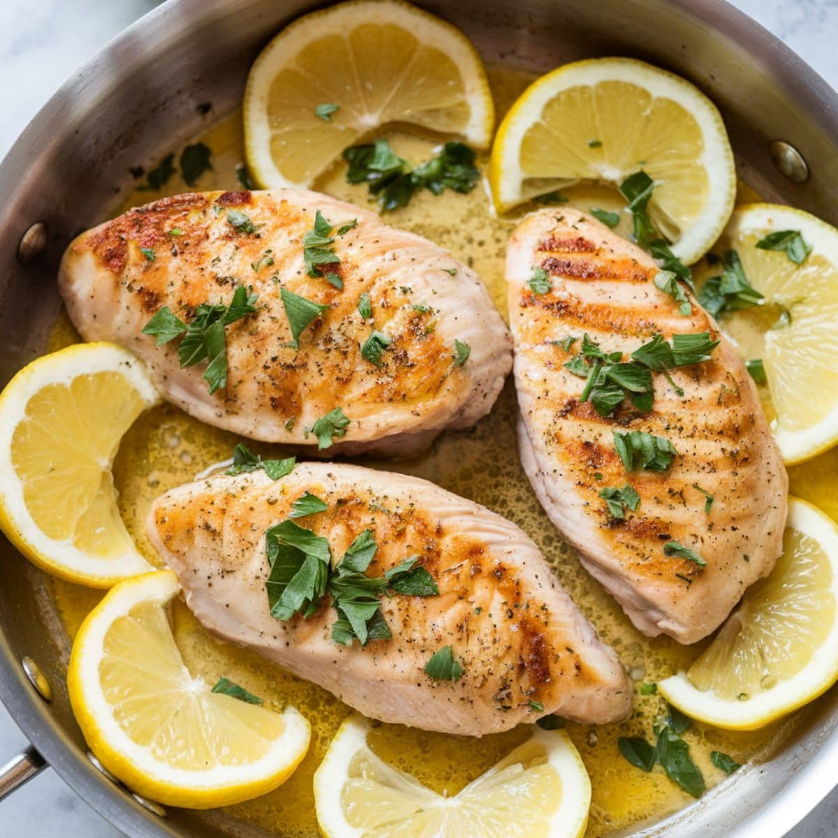
[[[530,82],[530,76],[508,70],[490,70],[489,76],[499,115]],[[431,157],[432,148],[438,142],[402,132],[382,132],[379,136],[388,137],[396,153],[412,163]],[[236,165],[244,159],[240,112],[215,124],[200,140],[213,151],[213,169],[204,173],[195,189],[240,188],[235,175]],[[488,156],[481,154],[478,166],[482,173],[485,173],[487,163]],[[367,204],[369,196],[365,185],[347,184],[344,172],[344,164],[340,163],[317,184],[318,188],[355,204]],[[175,174],[163,193],[137,190],[119,211],[145,204],[162,194],[188,190],[179,174]],[[623,205],[618,194],[601,187],[580,186],[566,190],[566,194],[580,209],[597,206],[615,210]],[[437,197],[427,190],[422,191],[414,195],[408,207],[386,215],[385,220],[427,236],[473,266],[505,316],[504,251],[515,220],[499,220],[493,215],[483,184],[464,195],[445,192]],[[736,316],[736,339],[743,355],[759,357],[765,328],[756,315]],[[62,315],[54,328],[49,349],[59,349],[78,340],[75,330]],[[763,390],[768,398],[767,388]],[[239,437],[201,424],[169,405],[148,411],[127,433],[116,457],[116,486],[122,517],[149,561],[160,563],[147,541],[144,527],[153,499],[167,489],[192,480],[209,464],[230,457],[238,441]],[[256,443],[252,447],[263,454],[279,455],[281,450],[277,446]],[[644,736],[654,742],[652,727],[664,714],[665,702],[657,695],[640,695],[639,684],[655,682],[690,665],[706,644],[687,648],[669,638],[644,637],[632,627],[613,599],[582,570],[574,551],[561,540],[541,510],[520,466],[515,443],[512,380],[507,381],[494,410],[472,431],[444,433],[428,453],[415,460],[390,463],[361,459],[360,462],[372,468],[395,469],[427,478],[515,521],[535,540],[566,591],[600,636],[617,650],[623,665],[637,682],[634,717],[629,722],[601,727],[567,724],[591,776],[592,806],[587,838],[622,833],[631,826],[649,824],[691,803],[691,797],[660,770],[642,773],[629,765],[618,752],[617,739]],[[828,514],[838,516],[836,467],[838,448],[811,463],[792,468],[793,493],[813,500]],[[101,592],[75,587],[58,579],[51,579],[49,585],[66,632],[72,638],[85,615],[101,598]],[[268,707],[297,706],[312,724],[312,746],[291,779],[271,794],[225,810],[211,811],[204,817],[228,825],[235,820],[246,821],[283,838],[318,835],[313,773],[349,708],[318,686],[288,675],[251,651],[213,639],[183,603],[173,605],[171,618],[178,647],[194,675],[202,676],[209,685],[224,675],[261,696]],[[727,753],[738,763],[758,762],[777,747],[792,724],[794,718],[753,733],[722,732],[695,724],[685,732],[684,738],[709,788],[724,779],[722,772],[711,765],[711,751]],[[475,739],[386,725],[376,729],[370,744],[386,761],[414,774],[431,789],[451,795],[508,753],[526,733],[526,727],[520,727]]]

